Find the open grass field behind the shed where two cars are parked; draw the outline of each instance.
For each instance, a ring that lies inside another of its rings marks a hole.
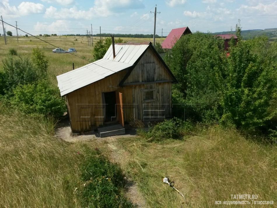
[[[53,37],[40,37],[39,38],[59,47],[64,50],[68,50],[68,48],[76,48],[77,56],[83,57],[85,59],[93,58],[93,47],[88,46],[87,37],[83,36],[53,36]],[[103,37],[102,37],[103,38]],[[50,80],[54,85],[57,85],[56,76],[65,72],[72,70],[72,63],[74,63],[75,69],[81,67],[83,65],[88,64],[87,61],[78,58],[76,56],[66,54],[57,54],[52,53],[52,49],[55,49],[54,46],[47,44],[35,37],[19,37],[19,43],[17,43],[16,37],[8,37],[7,45],[5,45],[4,37],[0,37],[0,62],[1,60],[8,54],[9,48],[15,48],[20,56],[31,56],[32,48],[38,47],[40,48],[46,58],[49,60],[49,69],[48,75],[50,76]],[[76,41],[77,39],[77,41]],[[98,41],[100,37],[93,37],[94,43]],[[117,38],[115,38],[117,39]],[[150,38],[121,38],[124,41],[131,42],[145,42],[152,41]],[[158,42],[161,39],[156,39]]]

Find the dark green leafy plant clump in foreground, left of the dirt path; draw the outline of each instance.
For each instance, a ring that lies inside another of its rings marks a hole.
[[[77,195],[82,207],[134,207],[123,195],[122,170],[99,150],[87,154],[80,171],[84,184]]]

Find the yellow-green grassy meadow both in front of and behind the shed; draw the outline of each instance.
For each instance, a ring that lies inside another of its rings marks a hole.
[[[93,57],[86,37],[42,39],[64,50],[74,47],[76,55],[85,59]],[[0,37],[0,66],[9,48],[31,56],[35,47],[49,61],[47,74],[53,86],[57,75],[72,70],[72,63],[75,68],[87,64],[70,54],[52,53],[54,46],[34,37],[20,37],[19,43],[16,37],[8,37],[7,45]],[[0,207],[132,207],[124,197],[124,174],[138,185],[147,207],[215,207],[215,201],[232,201],[231,194],[255,194],[257,200],[272,200],[271,207],[276,207],[276,145],[260,142],[259,136],[196,125],[179,139],[159,142],[138,136],[66,143],[53,136],[56,122],[0,103]],[[162,182],[165,176],[175,182],[185,200]],[[235,207],[246,206],[257,205]]]

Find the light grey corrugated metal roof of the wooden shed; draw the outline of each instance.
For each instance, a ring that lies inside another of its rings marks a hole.
[[[115,44],[115,58],[110,46],[102,59],[57,76],[61,96],[134,65],[148,46]]]

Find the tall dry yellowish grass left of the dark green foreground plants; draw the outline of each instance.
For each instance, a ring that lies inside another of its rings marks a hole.
[[[73,190],[82,147],[53,138],[53,128],[0,106],[0,207],[80,207]]]

